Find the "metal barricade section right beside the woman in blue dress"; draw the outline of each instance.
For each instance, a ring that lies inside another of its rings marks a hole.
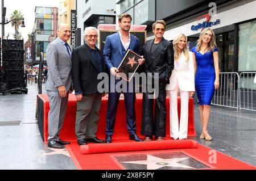
[[[235,108],[240,111],[240,77],[236,72],[220,73],[220,86],[214,92],[212,105]]]

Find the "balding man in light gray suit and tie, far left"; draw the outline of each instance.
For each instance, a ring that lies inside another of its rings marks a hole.
[[[72,91],[71,53],[72,48],[67,41],[71,36],[71,27],[60,24],[57,39],[52,41],[46,49],[48,78],[46,92],[49,98],[50,110],[48,114],[48,146],[61,149],[68,141],[60,139],[59,134],[68,104],[68,94]]]

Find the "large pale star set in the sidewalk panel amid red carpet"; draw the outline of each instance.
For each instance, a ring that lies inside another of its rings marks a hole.
[[[187,165],[183,165],[181,163],[178,163],[180,161],[183,161],[185,158],[170,158],[170,159],[163,159],[159,157],[154,157],[150,154],[147,154],[147,159],[142,161],[131,161],[131,162],[122,162],[122,163],[133,163],[133,164],[139,164],[139,165],[147,165],[147,170],[156,170],[160,169],[162,167],[179,167],[184,169],[195,169],[193,167],[189,167]]]

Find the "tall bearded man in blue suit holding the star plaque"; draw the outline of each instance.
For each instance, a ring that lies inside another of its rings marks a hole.
[[[131,27],[131,15],[121,14],[118,17],[119,31],[113,35],[106,37],[104,47],[104,61],[106,68],[109,70],[111,76],[118,77],[118,66],[121,63],[127,50],[131,49],[134,52],[139,52],[139,39],[133,35],[130,35]],[[139,64],[143,64],[144,58],[139,59]],[[115,85],[121,81],[121,79],[115,79],[110,82],[110,91],[108,99],[108,111],[106,115],[106,138],[105,143],[112,142],[112,135],[114,133],[115,114],[117,113],[117,107],[119,102],[120,92],[115,90]],[[133,91],[129,91],[129,86],[133,86]],[[130,140],[143,141],[136,134],[135,124],[135,89],[134,83],[127,82],[127,87],[123,91],[125,96],[125,107],[126,107],[126,125],[127,131],[130,134]]]

